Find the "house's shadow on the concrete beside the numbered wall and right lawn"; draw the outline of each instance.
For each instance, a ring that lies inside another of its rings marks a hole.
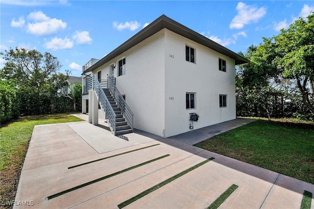
[[[256,119],[236,118],[234,120],[222,122],[219,124],[207,126],[200,129],[196,129],[196,130],[189,131],[189,132],[176,135],[173,137],[169,137],[169,138],[162,138],[154,134],[147,133],[140,130],[134,130],[134,133],[145,136],[145,137],[150,137],[152,139],[158,140],[170,146],[190,152],[191,154],[201,156],[201,153],[203,151],[207,151],[207,152],[210,152],[210,151],[193,146],[194,144],[202,142],[204,140],[211,139],[219,134],[222,134],[224,132],[230,131],[237,127],[246,125],[253,121],[256,121]],[[263,181],[267,181],[271,184],[284,187],[286,189],[300,193],[302,195],[303,195],[304,190],[314,193],[314,185],[311,183],[303,182],[301,180],[297,180],[292,177],[279,174],[275,171],[270,171],[256,165],[244,163],[230,157],[219,155],[214,152],[211,152],[211,153],[212,153],[212,157],[215,158],[214,162],[216,163],[222,164],[224,166],[235,169],[237,171],[248,174],[250,176],[254,176],[256,178],[262,179]],[[301,184],[301,182],[303,183]]]

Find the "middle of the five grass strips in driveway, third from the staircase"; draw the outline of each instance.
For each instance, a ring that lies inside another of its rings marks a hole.
[[[159,184],[157,184],[157,185],[155,185],[155,186],[153,186],[153,187],[151,187],[151,188],[149,188],[149,189],[147,189],[147,190],[145,190],[145,191],[143,191],[141,193],[139,193],[138,195],[132,197],[131,199],[126,200],[123,203],[120,203],[118,205],[119,209],[122,209],[122,208],[126,207],[127,205],[130,205],[132,202],[135,202],[136,200],[144,197],[145,195],[147,195],[147,194],[157,190],[161,186],[165,186],[166,184],[168,184],[168,183],[178,179],[179,177],[183,176],[184,174],[194,170],[195,168],[198,168],[199,166],[201,166],[201,165],[203,165],[205,163],[208,163],[209,161],[211,161],[213,159],[215,159],[215,158],[209,158],[208,160],[203,161],[202,163],[198,163],[198,164],[194,165],[193,167],[190,167],[190,168],[182,171],[181,173],[178,173],[177,175],[175,175],[175,176],[173,176],[173,177],[171,177],[171,178],[169,178],[169,179],[167,179],[167,180],[165,180],[165,181],[163,181],[163,182],[161,182],[161,183],[159,183]]]

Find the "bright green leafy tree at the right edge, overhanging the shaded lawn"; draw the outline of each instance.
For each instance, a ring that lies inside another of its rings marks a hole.
[[[294,80],[303,104],[314,114],[314,13],[296,20],[279,35],[264,39],[259,50],[263,53],[257,57],[276,69],[274,79]]]

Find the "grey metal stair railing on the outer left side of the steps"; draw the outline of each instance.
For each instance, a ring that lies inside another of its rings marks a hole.
[[[113,135],[116,135],[116,117],[113,108],[110,105],[110,102],[108,101],[107,96],[105,95],[105,92],[103,88],[105,86],[101,85],[98,81],[98,79],[95,77],[95,75],[92,78],[92,86],[93,90],[96,92],[96,95],[98,96],[98,101],[100,105],[103,107],[103,110],[105,111],[106,119],[109,124],[109,128],[111,132],[113,132]]]

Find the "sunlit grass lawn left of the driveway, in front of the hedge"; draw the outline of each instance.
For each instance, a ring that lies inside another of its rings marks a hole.
[[[69,114],[24,116],[0,128],[0,200],[14,200],[28,143],[35,125],[75,122]],[[8,206],[11,208],[11,206]]]

